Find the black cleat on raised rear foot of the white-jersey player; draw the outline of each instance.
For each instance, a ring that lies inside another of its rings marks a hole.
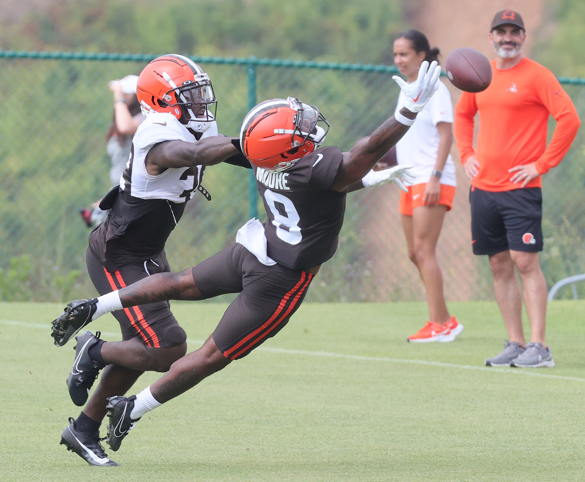
[[[77,345],[75,346],[75,362],[67,378],[67,387],[73,403],[82,407],[87,401],[90,394],[91,385],[94,384],[98,377],[99,366],[90,358],[90,348],[99,342],[101,332],[95,332],[95,336],[90,330],[83,335],[75,336]]]

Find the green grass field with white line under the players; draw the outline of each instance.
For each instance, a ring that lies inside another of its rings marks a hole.
[[[224,308],[173,311],[203,340]],[[121,467],[99,468],[59,445],[80,411],[64,383],[74,343],[49,336],[61,306],[0,304],[0,480],[584,480],[585,302],[550,304],[557,366],[531,371],[483,367],[505,338],[494,303],[450,309],[466,327],[455,342],[413,345],[405,338],[424,304],[302,305],[262,349],[144,416],[119,452],[106,449]],[[91,328],[119,339],[112,316]]]

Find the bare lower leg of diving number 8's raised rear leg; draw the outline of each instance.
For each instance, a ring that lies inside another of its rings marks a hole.
[[[168,299],[197,300],[205,297],[193,280],[192,268],[181,273],[158,273],[122,288],[119,293],[124,308]]]

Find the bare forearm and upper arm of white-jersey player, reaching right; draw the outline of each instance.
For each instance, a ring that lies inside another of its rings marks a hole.
[[[146,171],[159,175],[169,167],[213,166],[238,154],[232,139],[236,137],[211,136],[198,142],[166,140],[154,144],[146,155]]]

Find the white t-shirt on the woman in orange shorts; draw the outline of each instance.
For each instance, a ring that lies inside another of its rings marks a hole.
[[[404,94],[402,91],[398,96],[398,103],[395,112],[404,107]],[[439,149],[439,130],[436,128],[438,122],[453,122],[453,104],[451,95],[443,82],[439,82],[438,91],[425,105],[422,112],[408,132],[396,144],[396,157],[398,164],[414,166],[412,171],[417,175],[412,184],[428,183],[437,160]],[[441,184],[457,185],[455,178],[455,164],[451,154],[443,168]]]

